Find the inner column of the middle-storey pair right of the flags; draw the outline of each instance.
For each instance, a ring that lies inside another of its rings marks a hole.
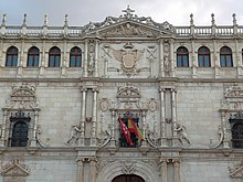
[[[160,147],[167,146],[167,138],[166,138],[166,110],[165,110],[165,88],[160,88]]]

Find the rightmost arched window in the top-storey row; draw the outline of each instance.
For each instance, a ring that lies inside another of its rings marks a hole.
[[[233,67],[232,51],[228,46],[220,49],[220,65],[221,67]]]

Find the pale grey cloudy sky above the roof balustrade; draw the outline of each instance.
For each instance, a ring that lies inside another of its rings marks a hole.
[[[0,15],[7,14],[8,25],[21,25],[24,13],[28,25],[43,25],[44,14],[49,25],[63,25],[68,14],[70,25],[85,25],[119,17],[128,4],[138,17],[151,17],[158,23],[189,25],[193,13],[196,25],[211,25],[214,13],[218,25],[231,25],[235,13],[237,24],[243,24],[243,0],[0,0]]]

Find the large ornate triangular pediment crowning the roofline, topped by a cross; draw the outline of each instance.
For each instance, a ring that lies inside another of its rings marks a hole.
[[[157,23],[150,17],[138,17],[134,10],[127,7],[123,10],[125,14],[118,18],[107,17],[103,22],[89,22],[83,29],[86,35],[98,35],[101,38],[158,38],[171,36],[176,33],[175,26],[168,22]]]

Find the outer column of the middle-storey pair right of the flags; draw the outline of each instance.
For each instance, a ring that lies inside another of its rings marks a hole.
[[[177,103],[176,103],[176,93],[175,88],[170,89],[172,97],[172,146],[178,147],[178,137],[177,137]]]

